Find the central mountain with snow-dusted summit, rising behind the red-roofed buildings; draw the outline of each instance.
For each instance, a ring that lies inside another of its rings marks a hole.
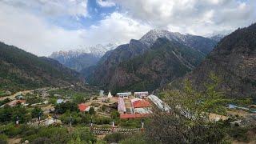
[[[216,44],[201,36],[150,30],[110,50],[82,74],[90,84],[110,90],[154,90],[193,70]]]

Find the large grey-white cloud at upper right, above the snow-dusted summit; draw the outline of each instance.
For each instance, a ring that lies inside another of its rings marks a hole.
[[[208,35],[256,21],[256,1],[248,0],[114,0],[130,17],[160,29]]]

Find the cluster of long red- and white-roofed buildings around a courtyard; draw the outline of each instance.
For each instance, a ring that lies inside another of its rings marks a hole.
[[[120,118],[144,118],[152,113],[152,108],[157,107],[162,111],[169,111],[170,107],[157,96],[147,91],[118,93],[118,112]]]

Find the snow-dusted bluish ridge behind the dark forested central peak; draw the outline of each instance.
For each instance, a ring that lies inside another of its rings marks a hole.
[[[131,39],[128,44],[118,46],[115,50],[110,50],[110,52],[107,52],[101,58],[97,66],[82,70],[82,74],[86,76],[86,79],[90,84],[106,88],[113,88],[114,86],[118,86],[121,83],[133,83],[128,82],[130,80],[126,78],[119,78],[118,80],[115,75],[118,73],[117,70],[120,70],[120,65],[122,62],[130,62],[133,61],[134,58],[140,56],[146,58],[144,54],[147,54],[148,51],[152,50],[154,43],[157,42],[158,38],[164,38],[169,42],[178,43],[182,47],[189,47],[191,50],[197,51],[197,54],[195,55],[202,55],[203,57],[205,57],[206,54],[208,54],[208,52],[212,50],[217,43],[210,38],[203,38],[190,34],[183,35],[178,33],[172,33],[166,30],[150,30],[139,40]],[[157,47],[154,47],[154,49],[157,49]],[[170,55],[176,57],[174,54]],[[152,58],[150,58],[150,61],[151,60],[154,60],[154,54]],[[180,60],[180,63],[182,63],[182,60]],[[167,64],[163,63],[163,65]],[[190,67],[194,68],[194,66]],[[145,69],[148,70],[150,68],[145,67]],[[178,71],[176,72],[178,73]],[[186,72],[188,72],[188,70]],[[122,87],[125,86],[126,85],[122,85]]]

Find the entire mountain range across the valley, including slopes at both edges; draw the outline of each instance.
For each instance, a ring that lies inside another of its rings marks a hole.
[[[0,42],[0,90],[68,86],[84,83],[84,77],[113,92],[153,91],[168,83],[170,89],[181,89],[184,79],[204,90],[211,73],[222,80],[219,89],[227,96],[256,97],[256,24],[224,38],[150,30],[121,46],[60,51],[50,58]]]

